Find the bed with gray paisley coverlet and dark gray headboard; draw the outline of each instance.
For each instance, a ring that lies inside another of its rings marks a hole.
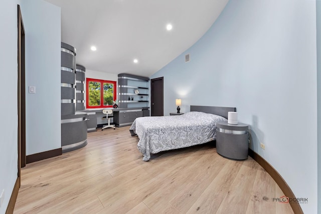
[[[139,117],[129,128],[138,136],[138,150],[143,160],[160,151],[203,144],[216,139],[216,122],[227,121],[234,107],[191,106],[190,112],[179,116]]]

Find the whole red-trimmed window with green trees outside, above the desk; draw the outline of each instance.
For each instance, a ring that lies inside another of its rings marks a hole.
[[[112,107],[117,98],[116,81],[86,78],[86,108]]]

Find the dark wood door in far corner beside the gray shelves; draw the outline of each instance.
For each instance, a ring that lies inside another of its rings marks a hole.
[[[164,77],[150,80],[151,116],[164,116]]]

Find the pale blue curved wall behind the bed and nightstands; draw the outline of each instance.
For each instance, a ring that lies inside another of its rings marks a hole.
[[[151,76],[164,76],[164,115],[176,98],[182,112],[236,107],[250,147],[308,198],[304,213],[317,211],[315,10],[315,1],[230,0],[194,46]]]

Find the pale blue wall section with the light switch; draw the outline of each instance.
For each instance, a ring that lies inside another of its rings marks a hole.
[[[61,148],[60,8],[42,0],[21,4],[26,31],[26,152]],[[36,87],[30,94],[29,86]]]

